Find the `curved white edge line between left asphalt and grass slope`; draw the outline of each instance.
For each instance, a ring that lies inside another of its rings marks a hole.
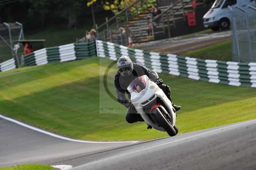
[[[96,141],[83,141],[83,140],[71,139],[71,138],[68,138],[68,137],[64,137],[64,136],[53,134],[51,132],[47,132],[47,131],[39,129],[39,128],[35,128],[33,126],[30,126],[30,125],[27,125],[25,123],[22,123],[22,122],[20,122],[18,120],[14,120],[14,119],[5,117],[5,116],[3,116],[1,114],[0,114],[0,118],[3,118],[3,119],[8,120],[8,121],[11,121],[11,122],[16,123],[16,124],[18,124],[20,126],[23,126],[23,127],[26,127],[26,128],[32,129],[32,130],[35,130],[37,132],[41,132],[41,133],[44,133],[46,135],[50,135],[50,136],[53,136],[53,137],[56,137],[56,138],[59,138],[59,139],[63,139],[63,140],[66,140],[66,141],[71,141],[71,142],[81,142],[81,143],[129,143],[129,144],[140,142],[140,141],[96,142]]]

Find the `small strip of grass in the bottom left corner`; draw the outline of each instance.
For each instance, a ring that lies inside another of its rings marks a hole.
[[[0,170],[54,170],[52,166],[39,164],[24,164],[16,166],[7,166],[0,168]]]

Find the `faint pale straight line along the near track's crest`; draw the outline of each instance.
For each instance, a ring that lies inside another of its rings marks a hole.
[[[87,163],[87,164],[84,164],[84,165],[81,165],[82,166],[87,166],[87,165],[91,165],[91,164],[98,164],[102,161],[107,161],[108,159],[116,159],[116,158],[120,158],[122,156],[127,156],[127,155],[135,155],[135,153],[138,153],[138,152],[141,152],[141,151],[146,151],[146,150],[151,150],[153,148],[157,148],[157,147],[160,147],[160,146],[164,146],[164,145],[169,145],[171,143],[176,143],[176,142],[180,142],[180,141],[185,141],[185,140],[188,140],[188,139],[192,139],[192,138],[195,138],[195,137],[198,137],[198,136],[203,136],[203,135],[206,135],[206,134],[210,134],[210,133],[214,133],[214,132],[219,132],[220,129],[229,129],[229,128],[234,128],[236,126],[241,126],[241,125],[244,125],[244,124],[249,124],[249,123],[253,123],[253,122],[256,122],[256,119],[254,120],[249,120],[249,121],[244,121],[244,122],[239,122],[237,124],[231,124],[229,125],[228,127],[219,127],[217,129],[213,129],[211,131],[207,131],[207,132],[203,132],[203,133],[200,133],[200,134],[197,134],[197,135],[192,135],[192,136],[188,136],[188,137],[185,137],[185,138],[181,138],[181,139],[177,139],[177,140],[173,140],[171,142],[168,142],[168,143],[163,143],[163,144],[159,144],[159,145],[156,145],[156,146],[152,146],[152,147],[148,147],[148,148],[144,148],[144,149],[140,149],[140,150],[137,150],[137,151],[133,151],[133,152],[130,152],[130,153],[124,153],[124,154],[119,154],[117,156],[113,156],[113,157],[108,157],[108,158],[105,158],[105,159],[100,159],[100,160],[97,160],[97,161],[93,161],[93,162],[90,162],[90,163]],[[80,166],[77,166],[77,167],[80,167]]]

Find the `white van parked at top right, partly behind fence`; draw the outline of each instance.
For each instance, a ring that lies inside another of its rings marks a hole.
[[[204,15],[204,27],[210,27],[212,30],[217,31],[219,29],[228,29],[230,27],[230,21],[232,20],[232,13],[228,8],[228,5],[232,8],[239,6],[245,10],[248,9],[248,5],[256,6],[255,0],[216,0],[211,9]]]

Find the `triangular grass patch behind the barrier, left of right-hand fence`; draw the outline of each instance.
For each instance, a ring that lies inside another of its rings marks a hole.
[[[201,59],[214,59],[221,61],[232,61],[232,43],[231,40],[210,45],[208,47],[193,50],[181,54],[181,56],[189,56]]]

